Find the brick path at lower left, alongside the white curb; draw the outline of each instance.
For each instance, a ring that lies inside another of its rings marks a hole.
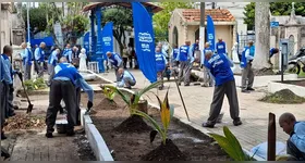
[[[34,110],[32,114],[46,115],[49,103],[48,95],[30,96]],[[25,114],[27,103],[22,102],[21,110],[16,112]],[[8,140],[1,145],[10,153],[10,161],[80,161],[76,137],[57,135],[54,138],[45,137],[45,130],[17,130],[7,133]]]

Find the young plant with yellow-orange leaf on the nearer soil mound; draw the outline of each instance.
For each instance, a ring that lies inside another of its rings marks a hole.
[[[171,118],[173,116],[173,112],[174,112],[173,105],[169,104],[168,93],[169,93],[169,89],[168,89],[164,100],[162,102],[161,102],[160,98],[158,96],[156,96],[158,99],[159,105],[160,105],[160,116],[161,116],[162,127],[160,125],[158,125],[158,123],[152,117],[147,115],[146,113],[138,111],[138,110],[134,111],[134,114],[143,116],[144,118],[149,121],[152,124],[152,126],[155,127],[156,130],[152,130],[150,133],[150,142],[152,142],[155,140],[155,137],[157,136],[158,133],[160,134],[160,136],[162,138],[162,143],[166,145],[166,142],[167,142],[168,128],[169,128],[170,121],[171,121]]]

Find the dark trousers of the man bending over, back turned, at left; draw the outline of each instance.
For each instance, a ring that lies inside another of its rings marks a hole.
[[[68,111],[68,130],[73,131],[76,124],[76,93],[75,87],[70,80],[56,80],[53,79],[50,88],[49,108],[47,110],[47,133],[53,133],[57,114],[61,100],[65,103]]]

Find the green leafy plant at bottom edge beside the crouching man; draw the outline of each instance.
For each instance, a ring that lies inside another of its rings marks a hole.
[[[224,126],[223,127],[224,136],[217,135],[217,134],[209,134],[218,145],[231,156],[234,161],[255,161],[253,156],[247,155],[236,139],[236,137],[230,131],[230,129]]]

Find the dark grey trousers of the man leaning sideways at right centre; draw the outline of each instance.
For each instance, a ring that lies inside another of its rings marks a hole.
[[[233,120],[240,118],[240,106],[239,106],[235,80],[230,80],[221,86],[216,86],[213,89],[213,98],[210,104],[210,113],[208,118],[209,124],[216,124],[216,121],[222,108],[224,95],[227,96],[230,104],[231,118]]]

